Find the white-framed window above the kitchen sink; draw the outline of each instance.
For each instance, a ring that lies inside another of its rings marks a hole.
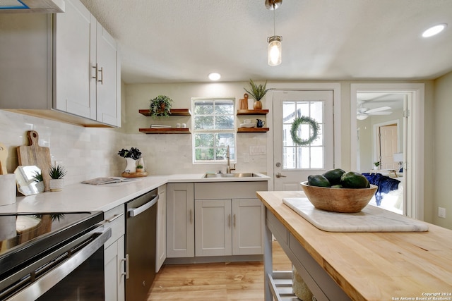
[[[235,118],[233,98],[193,98],[194,163],[224,163],[230,147],[235,161]]]

